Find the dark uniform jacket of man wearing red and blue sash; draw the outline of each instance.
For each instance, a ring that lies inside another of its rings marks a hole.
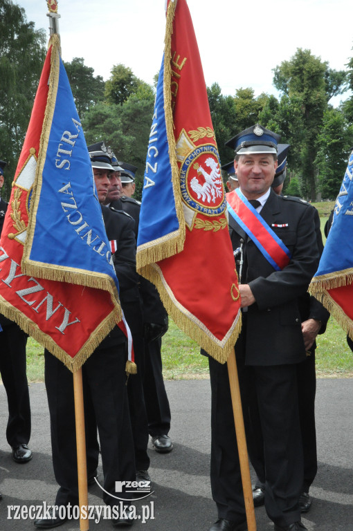
[[[271,190],[260,216],[291,252],[291,261],[281,271],[273,269],[230,216],[233,250],[239,247],[240,239],[244,240],[248,267],[243,272],[242,283],[249,284],[255,297],[246,315],[245,362],[248,365],[280,365],[305,360],[299,299],[307,292],[318,268],[314,212],[309,203],[277,196]],[[274,224],[287,226],[274,227]]]

